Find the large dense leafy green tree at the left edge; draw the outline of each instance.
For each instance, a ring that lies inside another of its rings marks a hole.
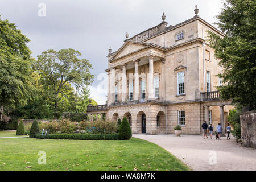
[[[24,105],[34,92],[30,40],[0,16],[0,120],[3,107]]]

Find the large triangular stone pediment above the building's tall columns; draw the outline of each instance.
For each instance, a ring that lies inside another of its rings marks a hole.
[[[114,56],[112,57],[112,59],[110,59],[110,61],[112,61],[114,59],[118,59],[119,57],[122,57],[125,55],[129,55],[130,53],[133,53],[133,52],[136,52],[141,49],[148,48],[148,47],[150,47],[150,44],[137,43],[137,42],[126,42],[123,44],[123,46],[121,48],[118,49],[118,51],[114,54]]]

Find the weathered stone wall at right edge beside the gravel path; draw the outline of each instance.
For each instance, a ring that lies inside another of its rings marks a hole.
[[[256,110],[240,116],[243,145],[256,148]]]

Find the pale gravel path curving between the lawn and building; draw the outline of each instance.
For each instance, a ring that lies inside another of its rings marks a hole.
[[[237,144],[232,136],[231,140],[226,137],[203,139],[200,135],[176,137],[174,134],[133,134],[133,137],[158,144],[193,170],[256,170],[256,150]]]

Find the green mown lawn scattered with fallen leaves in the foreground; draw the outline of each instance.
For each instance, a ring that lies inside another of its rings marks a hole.
[[[2,132],[1,132],[2,133]],[[38,164],[39,151],[46,164]],[[26,168],[31,166],[31,168]],[[189,170],[170,152],[146,140],[0,139],[0,170]]]

